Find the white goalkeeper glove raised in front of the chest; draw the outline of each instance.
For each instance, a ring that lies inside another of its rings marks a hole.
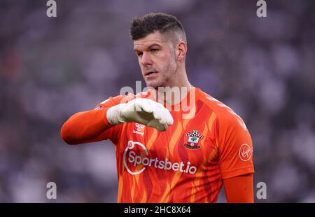
[[[107,110],[106,115],[111,125],[141,123],[160,131],[167,130],[167,125],[174,123],[171,113],[162,104],[151,99],[138,98],[118,104]]]

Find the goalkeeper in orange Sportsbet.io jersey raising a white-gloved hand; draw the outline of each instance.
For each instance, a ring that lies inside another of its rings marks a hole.
[[[190,85],[179,20],[150,13],[134,18],[130,34],[152,88],[74,114],[62,139],[116,145],[118,202],[216,202],[223,186],[228,202],[253,202],[251,136],[232,109]]]

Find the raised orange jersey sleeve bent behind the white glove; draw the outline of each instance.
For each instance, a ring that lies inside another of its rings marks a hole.
[[[110,139],[117,144],[122,125],[111,125],[106,113],[111,106],[123,103],[127,96],[109,97],[90,111],[74,114],[62,126],[62,139],[68,144],[83,144]]]

